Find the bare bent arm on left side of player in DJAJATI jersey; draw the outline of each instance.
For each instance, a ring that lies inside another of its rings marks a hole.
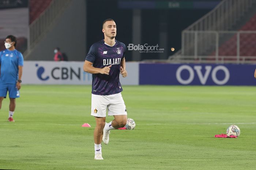
[[[95,68],[95,67],[93,67],[93,63],[85,60],[84,65],[83,65],[83,70],[85,72],[92,73],[92,74],[101,73],[101,74],[109,75],[110,67],[111,67],[111,65],[106,66],[104,68]]]

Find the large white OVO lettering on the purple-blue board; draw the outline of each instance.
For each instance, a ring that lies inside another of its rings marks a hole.
[[[181,65],[180,67],[178,67],[176,71],[176,79],[178,80],[179,83],[187,85],[192,83],[192,81],[195,79],[195,74],[196,74],[199,78],[200,83],[204,85],[206,84],[211,72],[211,79],[215,84],[224,85],[229,81],[229,78],[230,78],[229,69],[227,69],[227,67],[225,67],[224,65],[217,65],[213,69],[211,65],[206,65],[204,66],[204,69],[206,71],[203,75],[202,65],[194,65],[193,68],[192,66],[189,66],[189,65]],[[183,79],[181,77],[181,72],[184,70],[188,71],[189,73],[188,79]],[[225,77],[222,80],[217,78],[218,71],[222,71],[225,75]]]

